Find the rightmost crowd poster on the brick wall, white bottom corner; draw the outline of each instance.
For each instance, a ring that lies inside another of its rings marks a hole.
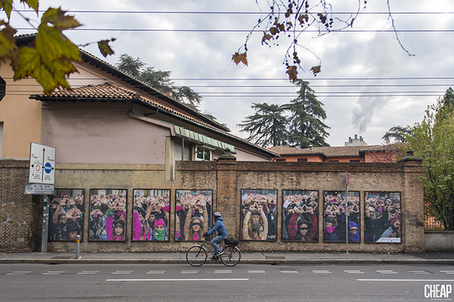
[[[400,243],[400,192],[365,192],[366,242]]]

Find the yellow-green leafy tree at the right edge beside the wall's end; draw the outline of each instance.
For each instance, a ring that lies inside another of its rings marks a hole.
[[[444,100],[429,106],[421,123],[405,135],[407,148],[423,159],[424,208],[444,229],[454,227],[454,110]]]

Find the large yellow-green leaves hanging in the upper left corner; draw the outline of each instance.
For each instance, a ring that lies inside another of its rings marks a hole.
[[[21,0],[29,8],[39,11],[39,0]],[[72,62],[80,61],[80,51],[63,31],[74,29],[80,23],[74,16],[67,15],[60,8],[49,8],[43,14],[41,23],[36,28],[29,19],[25,19],[36,30],[34,43],[18,47],[15,35],[17,30],[10,26],[11,12],[17,12],[13,0],[1,0],[0,11],[5,12],[6,20],[0,20],[0,61],[10,61],[14,71],[14,80],[32,77],[43,86],[44,93],[49,95],[57,88],[70,88],[66,78],[77,71]],[[21,14],[19,14],[22,16]],[[111,40],[98,41],[103,56],[114,54],[109,46]],[[91,43],[88,43],[89,45]]]

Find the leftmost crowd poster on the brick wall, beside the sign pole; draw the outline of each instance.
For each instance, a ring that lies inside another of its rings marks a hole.
[[[50,198],[47,241],[75,241],[82,237],[83,189],[55,189]]]

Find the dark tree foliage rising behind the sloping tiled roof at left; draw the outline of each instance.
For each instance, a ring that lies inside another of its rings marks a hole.
[[[135,59],[129,54],[122,54],[116,63],[116,67],[155,89],[164,93],[170,91],[175,100],[198,111],[202,97],[188,86],[173,86],[174,83],[169,78],[171,71],[155,70],[155,67],[149,67],[140,58]],[[210,118],[213,119],[213,116]]]

